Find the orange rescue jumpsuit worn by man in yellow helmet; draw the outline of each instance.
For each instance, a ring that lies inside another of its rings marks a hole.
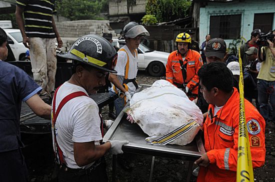
[[[177,50],[172,51],[168,56],[166,64],[166,80],[175,86],[177,86],[176,84],[181,84],[181,88],[183,88],[183,77],[179,61],[182,61],[181,54]],[[186,65],[185,86],[188,86],[191,93],[197,95],[199,83],[197,71],[202,65],[200,54],[197,51],[189,49],[183,64]]]

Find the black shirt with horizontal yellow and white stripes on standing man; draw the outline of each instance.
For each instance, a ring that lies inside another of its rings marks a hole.
[[[54,38],[52,14],[54,0],[16,0],[24,9],[25,33],[28,37]]]

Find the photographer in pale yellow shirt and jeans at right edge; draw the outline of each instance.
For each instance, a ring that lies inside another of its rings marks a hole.
[[[272,31],[275,34],[275,29]],[[258,102],[260,107],[260,114],[267,120],[275,122],[275,47],[274,47],[274,35],[266,34],[261,35],[257,44],[267,45],[260,46],[258,50],[258,60],[261,63],[261,68],[257,76],[257,88],[258,88]],[[273,36],[273,37],[272,37]],[[269,39],[272,37],[273,39]],[[270,41],[271,40],[271,41]],[[272,106],[272,118],[268,118],[268,101]]]

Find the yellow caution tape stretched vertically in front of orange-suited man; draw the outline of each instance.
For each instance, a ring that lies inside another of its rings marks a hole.
[[[241,37],[243,38],[243,37]],[[244,39],[244,38],[243,38]],[[240,42],[241,45],[241,42]],[[250,143],[246,128],[244,98],[243,98],[243,74],[242,61],[240,57],[240,47],[238,48],[238,61],[240,67],[239,74],[239,128],[238,128],[238,156],[237,156],[237,182],[252,182],[254,181],[253,167],[250,152]]]

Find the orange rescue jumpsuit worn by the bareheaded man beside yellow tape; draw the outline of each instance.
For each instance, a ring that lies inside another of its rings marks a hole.
[[[265,121],[256,108],[244,99],[246,126],[252,165],[259,167],[264,164]],[[197,181],[236,181],[239,93],[236,88],[224,106],[213,115],[214,105],[209,104],[208,114],[203,123],[204,147],[210,164],[200,166]]]

